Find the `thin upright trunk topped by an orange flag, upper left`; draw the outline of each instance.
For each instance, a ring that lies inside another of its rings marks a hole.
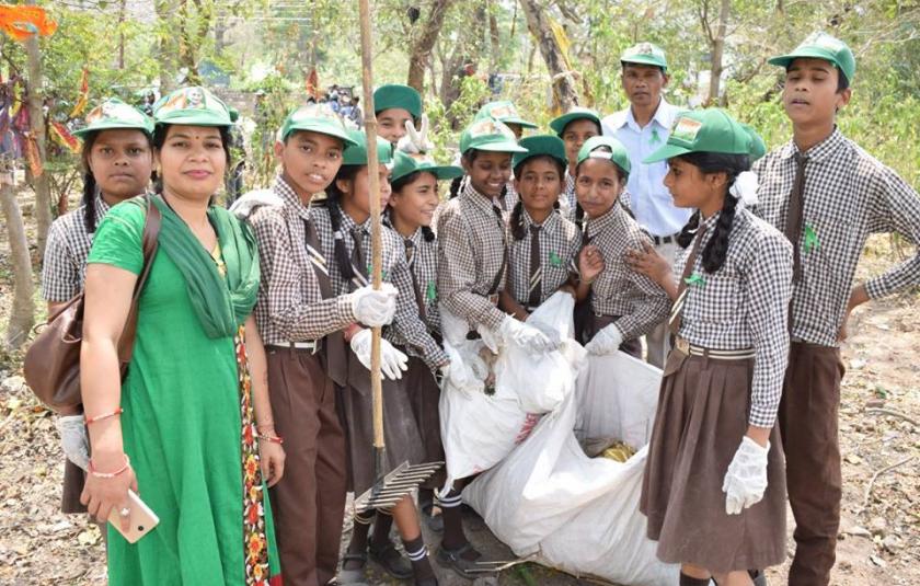
[[[34,5],[35,0],[28,0],[26,3]],[[26,39],[25,54],[28,60],[28,125],[32,138],[35,139],[35,145],[38,147],[38,159],[44,168],[47,160],[45,152],[45,113],[43,111],[45,92],[42,90],[42,53],[38,48],[38,35],[32,35]],[[48,229],[51,227],[51,189],[48,185],[48,174],[43,172],[33,177],[32,187],[35,189],[38,257],[42,258],[45,255]]]

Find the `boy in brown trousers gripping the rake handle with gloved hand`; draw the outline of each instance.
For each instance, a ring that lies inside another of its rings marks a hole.
[[[281,173],[269,194],[251,193],[262,279],[255,306],[268,361],[274,426],[285,438],[285,475],[271,489],[286,584],[314,586],[335,576],[345,512],[345,438],[335,406],[347,383],[342,331],[382,325],[395,291],[334,291],[317,229],[313,195],[324,191],[354,139],[325,106],[291,112],[275,153]],[[271,196],[271,197],[267,197]]]

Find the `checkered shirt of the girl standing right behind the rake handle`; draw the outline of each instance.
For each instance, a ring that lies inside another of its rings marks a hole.
[[[346,295],[355,288],[358,284],[353,279],[346,281],[345,277],[335,262],[335,232],[332,228],[332,220],[330,218],[329,206],[337,205],[326,202],[324,206],[313,207],[311,214],[317,220],[317,228],[320,234],[323,255],[330,258],[329,275],[332,280],[332,290],[340,295]],[[340,233],[345,242],[345,249],[348,251],[350,258],[354,250],[354,240],[352,232],[359,231],[361,239],[361,252],[367,262],[367,274],[370,274],[371,262],[371,239],[370,239],[370,218],[368,218],[361,226],[355,223],[350,216],[338,208],[342,218],[340,225]],[[391,340],[391,336],[399,336],[400,345],[405,346],[409,354],[417,356],[425,360],[433,370],[439,365],[448,363],[450,359],[441,349],[428,329],[422,322],[418,315],[418,306],[415,303],[415,294],[412,287],[412,275],[409,265],[405,262],[405,245],[402,238],[391,228],[382,227],[382,266],[383,280],[391,283],[398,290],[396,297],[396,313],[393,317],[393,322],[383,329],[384,337]],[[396,340],[393,337],[392,340]],[[392,341],[391,340],[391,341]]]

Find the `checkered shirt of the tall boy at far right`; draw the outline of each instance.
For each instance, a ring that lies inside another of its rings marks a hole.
[[[757,214],[781,232],[795,179],[793,141],[754,165]],[[920,197],[893,170],[840,130],[804,153],[805,209],[800,237],[802,279],[792,295],[792,337],[837,346],[853,275],[869,234],[899,232],[920,242]],[[920,251],[865,284],[872,299],[920,284]]]

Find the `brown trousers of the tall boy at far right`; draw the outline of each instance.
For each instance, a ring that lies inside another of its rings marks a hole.
[[[780,403],[786,485],[795,518],[790,586],[827,586],[840,526],[840,441],[837,412],[843,378],[840,349],[803,342],[790,346]]]

